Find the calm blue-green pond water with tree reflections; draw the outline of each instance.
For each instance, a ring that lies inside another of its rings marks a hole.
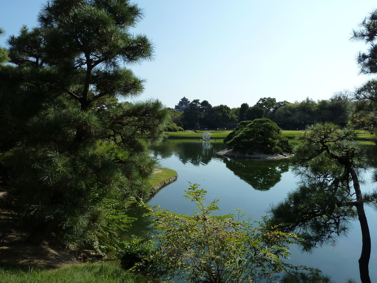
[[[191,214],[195,209],[186,200],[184,190],[189,183],[198,183],[207,193],[207,200],[219,199],[220,214],[228,214],[235,208],[260,220],[267,215],[271,204],[284,200],[287,192],[296,188],[299,179],[294,176],[288,160],[229,160],[216,155],[224,149],[222,141],[193,141],[167,139],[155,146],[152,153],[162,167],[178,172],[178,179],[162,188],[149,200],[149,205],[160,205],[174,212]],[[368,172],[365,174],[368,180]],[[371,191],[375,184],[366,182],[363,191]],[[372,237],[372,255],[369,272],[372,281],[377,278],[377,212],[366,207]],[[141,211],[135,211],[135,217]],[[143,236],[148,223],[136,221],[133,234]],[[332,280],[343,283],[348,278],[359,279],[358,262],[361,252],[361,232],[358,221],[351,223],[347,237],[339,237],[336,246],[323,246],[313,253],[302,253],[292,246],[290,263],[318,268]]]

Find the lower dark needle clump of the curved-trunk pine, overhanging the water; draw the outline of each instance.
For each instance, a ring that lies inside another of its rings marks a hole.
[[[351,198],[341,190],[331,190],[331,181],[321,178],[303,183],[271,209],[276,223],[290,223],[287,231],[297,229],[302,233],[306,250],[324,243],[335,244],[337,236],[346,235],[349,222],[357,217],[352,206],[343,205]]]

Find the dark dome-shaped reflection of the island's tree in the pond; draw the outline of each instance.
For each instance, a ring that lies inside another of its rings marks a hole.
[[[224,163],[234,175],[259,191],[267,191],[275,186],[281,175],[289,169],[289,161],[283,160],[232,160],[224,158]]]

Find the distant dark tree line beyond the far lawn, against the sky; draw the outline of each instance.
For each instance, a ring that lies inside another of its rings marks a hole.
[[[212,107],[207,100],[195,99],[184,112],[171,111],[173,125],[184,129],[194,129],[195,125],[209,129],[222,128],[228,122],[242,122],[260,118],[269,118],[284,130],[302,130],[318,122],[332,122],[344,127],[348,123],[352,107],[353,94],[339,91],[329,100],[317,102],[306,98],[301,102],[290,103],[276,98],[260,98],[253,106],[242,103],[240,107],[229,108],[227,105]]]

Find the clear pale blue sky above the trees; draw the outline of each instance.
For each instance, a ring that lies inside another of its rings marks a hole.
[[[174,107],[183,96],[211,105],[253,105],[260,97],[328,99],[368,79],[358,75],[352,29],[377,8],[369,0],[139,0],[135,33],[155,44],[155,60],[131,69],[147,79],[139,99]],[[41,0],[0,0],[0,26],[35,26]],[[0,39],[4,44],[5,38]]]

